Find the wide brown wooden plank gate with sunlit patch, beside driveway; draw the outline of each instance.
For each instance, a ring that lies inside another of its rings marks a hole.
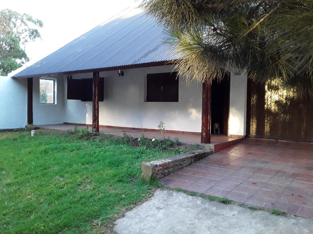
[[[247,135],[313,142],[313,100],[297,99],[278,80],[248,80]]]

